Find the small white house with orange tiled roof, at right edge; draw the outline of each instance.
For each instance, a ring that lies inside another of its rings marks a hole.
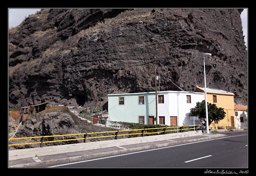
[[[247,107],[235,104],[235,117],[238,128],[247,129]]]

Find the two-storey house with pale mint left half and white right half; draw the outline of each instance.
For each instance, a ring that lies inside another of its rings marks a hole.
[[[109,94],[108,99],[108,121],[155,124],[155,92]],[[190,109],[202,100],[202,92],[157,92],[157,124],[192,125],[194,122],[190,120]],[[200,120],[195,121],[195,124],[200,124]]]

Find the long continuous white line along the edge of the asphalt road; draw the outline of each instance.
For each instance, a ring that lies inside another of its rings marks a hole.
[[[247,134],[237,135],[237,136],[246,136],[246,135]],[[178,146],[181,146],[181,145],[190,145],[192,143],[207,142],[207,141],[219,140],[219,139],[231,138],[231,137],[237,137],[237,136],[227,136],[227,137],[216,138],[216,139],[211,139],[211,140],[204,140],[204,141],[191,142],[191,143],[183,143],[183,144],[179,144],[179,145],[172,145],[172,146],[162,147],[162,148],[157,148],[157,149],[150,149],[150,150],[144,150],[144,151],[136,151],[136,152],[132,152],[132,153],[126,153],[126,154],[121,154],[121,155],[114,155],[114,156],[110,156],[110,157],[103,157],[103,158],[97,158],[97,159],[90,159],[90,160],[87,160],[87,161],[78,161],[78,162],[74,162],[74,163],[68,163],[68,164],[56,165],[56,166],[49,166],[49,167],[72,165],[72,164],[76,164],[76,163],[84,163],[84,162],[95,161],[95,160],[99,160],[99,159],[107,159],[107,158],[119,157],[119,156],[124,156],[124,155],[132,155],[132,154],[135,154],[135,153],[142,153],[142,152],[147,152],[147,151],[160,150],[160,149],[166,149],[166,148],[171,148],[171,147],[178,147]]]

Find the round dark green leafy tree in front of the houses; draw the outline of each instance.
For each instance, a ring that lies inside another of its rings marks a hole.
[[[200,119],[206,118],[206,101],[196,103],[196,107],[190,109],[190,116],[198,116]],[[223,108],[217,107],[216,104],[208,103],[208,124],[213,121],[220,121],[224,119],[226,112]]]

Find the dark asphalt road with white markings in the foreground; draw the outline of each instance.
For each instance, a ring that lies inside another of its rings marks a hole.
[[[56,167],[76,168],[243,168],[248,167],[247,133]]]

